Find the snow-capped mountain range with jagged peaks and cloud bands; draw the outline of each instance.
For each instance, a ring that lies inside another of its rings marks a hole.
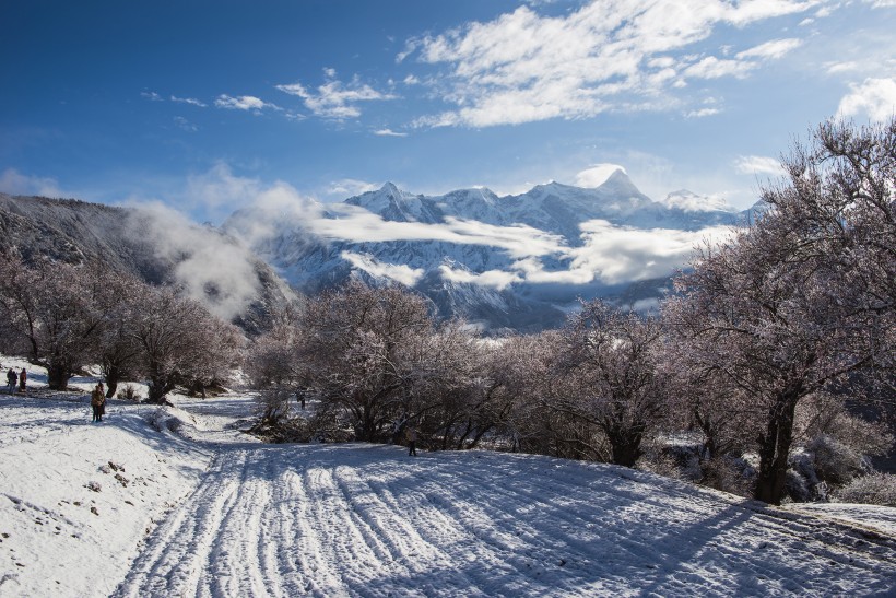
[[[280,198],[224,228],[307,293],[349,277],[394,281],[445,317],[535,330],[559,325],[577,297],[655,305],[695,245],[742,219],[688,191],[653,201],[617,169],[596,188],[550,183],[516,196],[426,196],[387,183],[342,203]],[[626,291],[633,283],[637,292]]]

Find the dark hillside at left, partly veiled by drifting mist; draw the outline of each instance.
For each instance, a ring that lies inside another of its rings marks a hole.
[[[293,294],[233,237],[164,210],[0,194],[0,251],[26,262],[102,260],[151,284],[179,285],[249,333]]]

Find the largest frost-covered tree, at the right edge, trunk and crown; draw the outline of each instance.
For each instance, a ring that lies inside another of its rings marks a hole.
[[[783,166],[788,179],[763,192],[769,210],[705,249],[665,308],[691,375],[755,413],[754,495],[770,503],[785,494],[798,404],[856,372],[892,379],[896,121],[824,125]]]

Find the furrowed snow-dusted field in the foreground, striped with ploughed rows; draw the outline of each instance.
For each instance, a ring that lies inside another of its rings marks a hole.
[[[613,467],[223,447],[120,596],[868,595],[896,540]]]

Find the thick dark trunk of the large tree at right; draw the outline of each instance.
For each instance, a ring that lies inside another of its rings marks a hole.
[[[780,504],[787,481],[787,460],[793,442],[793,415],[799,394],[782,394],[768,417],[768,429],[759,438],[759,474],[756,479],[754,499]]]

